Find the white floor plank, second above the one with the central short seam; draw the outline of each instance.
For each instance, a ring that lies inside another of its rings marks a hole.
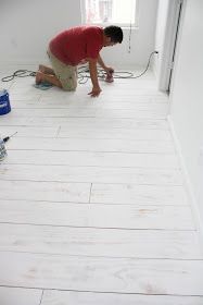
[[[2,163],[179,169],[175,154],[8,150],[8,158]]]

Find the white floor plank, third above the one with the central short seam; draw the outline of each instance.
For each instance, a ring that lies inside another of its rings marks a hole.
[[[13,137],[7,145],[8,149],[25,150],[81,150],[111,152],[157,152],[175,154],[172,142],[132,141],[132,139],[97,139],[97,138],[40,138]]]

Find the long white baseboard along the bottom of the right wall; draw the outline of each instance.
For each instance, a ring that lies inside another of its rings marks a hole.
[[[183,155],[182,155],[182,149],[181,149],[178,136],[176,134],[174,122],[173,122],[173,119],[172,119],[170,115],[167,117],[167,121],[168,121],[168,124],[169,124],[169,129],[170,129],[170,132],[172,132],[173,139],[175,142],[177,155],[178,155],[179,162],[180,162],[180,168],[181,168],[181,171],[182,171],[182,174],[183,174],[186,191],[188,193],[188,197],[189,197],[189,200],[191,203],[192,215],[193,215],[193,219],[194,219],[194,222],[195,222],[195,228],[196,228],[196,231],[198,231],[198,234],[199,234],[199,239],[201,241],[200,244],[201,244],[202,251],[203,251],[203,242],[202,242],[203,241],[203,225],[202,225],[202,221],[201,221],[201,218],[200,218],[200,211],[199,211],[196,198],[195,198],[194,191],[193,191],[193,187],[192,187],[192,183],[191,183],[191,180],[190,180],[190,175],[188,173],[188,169],[187,169],[187,166],[186,166],[186,162],[185,162],[185,158],[183,158]]]

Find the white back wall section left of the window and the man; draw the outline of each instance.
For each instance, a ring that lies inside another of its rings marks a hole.
[[[0,0],[0,61],[37,62],[49,39],[80,23],[79,1]]]

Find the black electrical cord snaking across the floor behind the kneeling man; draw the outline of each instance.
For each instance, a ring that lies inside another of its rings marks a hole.
[[[113,77],[114,78],[128,78],[128,80],[135,80],[141,77],[149,69],[150,66],[150,61],[153,54],[158,53],[157,51],[151,52],[148,64],[144,69],[144,71],[139,74],[139,75],[134,75],[132,72],[127,72],[127,71],[119,71],[119,72],[114,72]],[[86,84],[88,82],[88,78],[90,78],[90,73],[89,69],[87,66],[79,66],[78,68],[78,83],[79,84]],[[12,75],[5,76],[1,78],[2,82],[10,82],[13,81],[14,77],[27,77],[27,76],[36,76],[35,71],[29,71],[29,70],[17,70],[15,71]],[[104,80],[106,76],[106,72],[102,69],[98,69],[98,77],[100,80]]]

